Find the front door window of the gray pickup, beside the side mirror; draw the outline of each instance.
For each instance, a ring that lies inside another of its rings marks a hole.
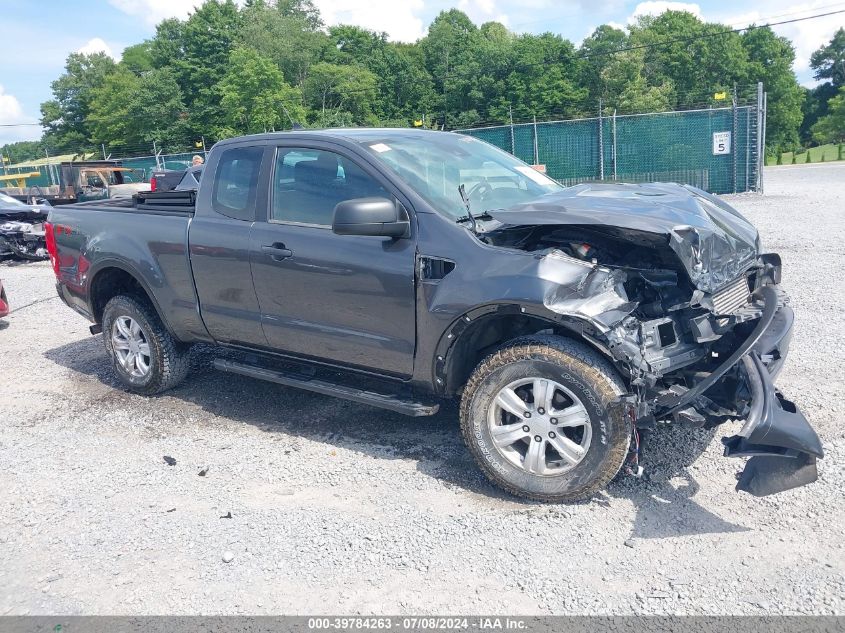
[[[271,220],[331,226],[339,202],[372,197],[391,196],[345,156],[289,147],[276,152]]]

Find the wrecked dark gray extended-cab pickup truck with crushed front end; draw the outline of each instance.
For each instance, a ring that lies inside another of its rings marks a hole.
[[[234,138],[196,192],[51,211],[58,292],[153,394],[215,366],[411,416],[459,399],[484,473],[541,501],[637,474],[657,425],[742,421],[737,488],[816,479],[818,436],[773,385],[780,258],[671,184],[564,188],[482,141],[354,129]]]

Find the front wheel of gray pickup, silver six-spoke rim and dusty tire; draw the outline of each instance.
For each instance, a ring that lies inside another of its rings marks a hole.
[[[622,468],[631,425],[610,415],[608,405],[625,392],[613,366],[583,343],[518,338],[470,376],[461,432],[481,470],[503,490],[534,501],[578,501],[604,489]],[[535,393],[548,410],[533,402]]]

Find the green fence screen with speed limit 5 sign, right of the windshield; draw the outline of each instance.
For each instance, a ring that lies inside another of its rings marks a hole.
[[[735,193],[762,185],[759,112],[747,105],[456,131],[545,165],[566,185],[662,181]]]

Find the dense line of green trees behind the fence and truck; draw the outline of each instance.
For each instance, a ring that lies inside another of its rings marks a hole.
[[[758,81],[768,91],[769,147],[786,151],[841,136],[843,49],[840,29],[813,56],[830,86],[808,92],[788,39],[768,27],[731,32],[686,12],[641,17],[627,31],[603,25],[576,47],[553,33],[479,27],[451,9],[405,44],[326,27],[311,0],[208,0],[186,20],[158,24],[119,62],[69,55],[41,105],[41,140],[3,153],[24,160],[104,144],[118,155],[153,142],[177,150],[200,136],[298,126],[455,129],[595,114],[599,102],[608,113],[724,105],[715,93]]]

